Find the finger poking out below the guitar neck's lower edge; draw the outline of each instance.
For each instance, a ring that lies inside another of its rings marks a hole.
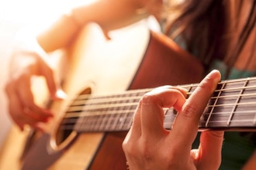
[[[203,131],[200,136],[199,168],[214,167],[218,169],[221,163],[221,149],[223,145],[223,131]]]

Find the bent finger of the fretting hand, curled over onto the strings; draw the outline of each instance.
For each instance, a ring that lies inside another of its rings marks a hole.
[[[163,107],[175,107],[180,110],[185,103],[185,96],[178,88],[157,88],[142,98],[141,129],[146,137],[159,138],[168,131],[164,129]]]

